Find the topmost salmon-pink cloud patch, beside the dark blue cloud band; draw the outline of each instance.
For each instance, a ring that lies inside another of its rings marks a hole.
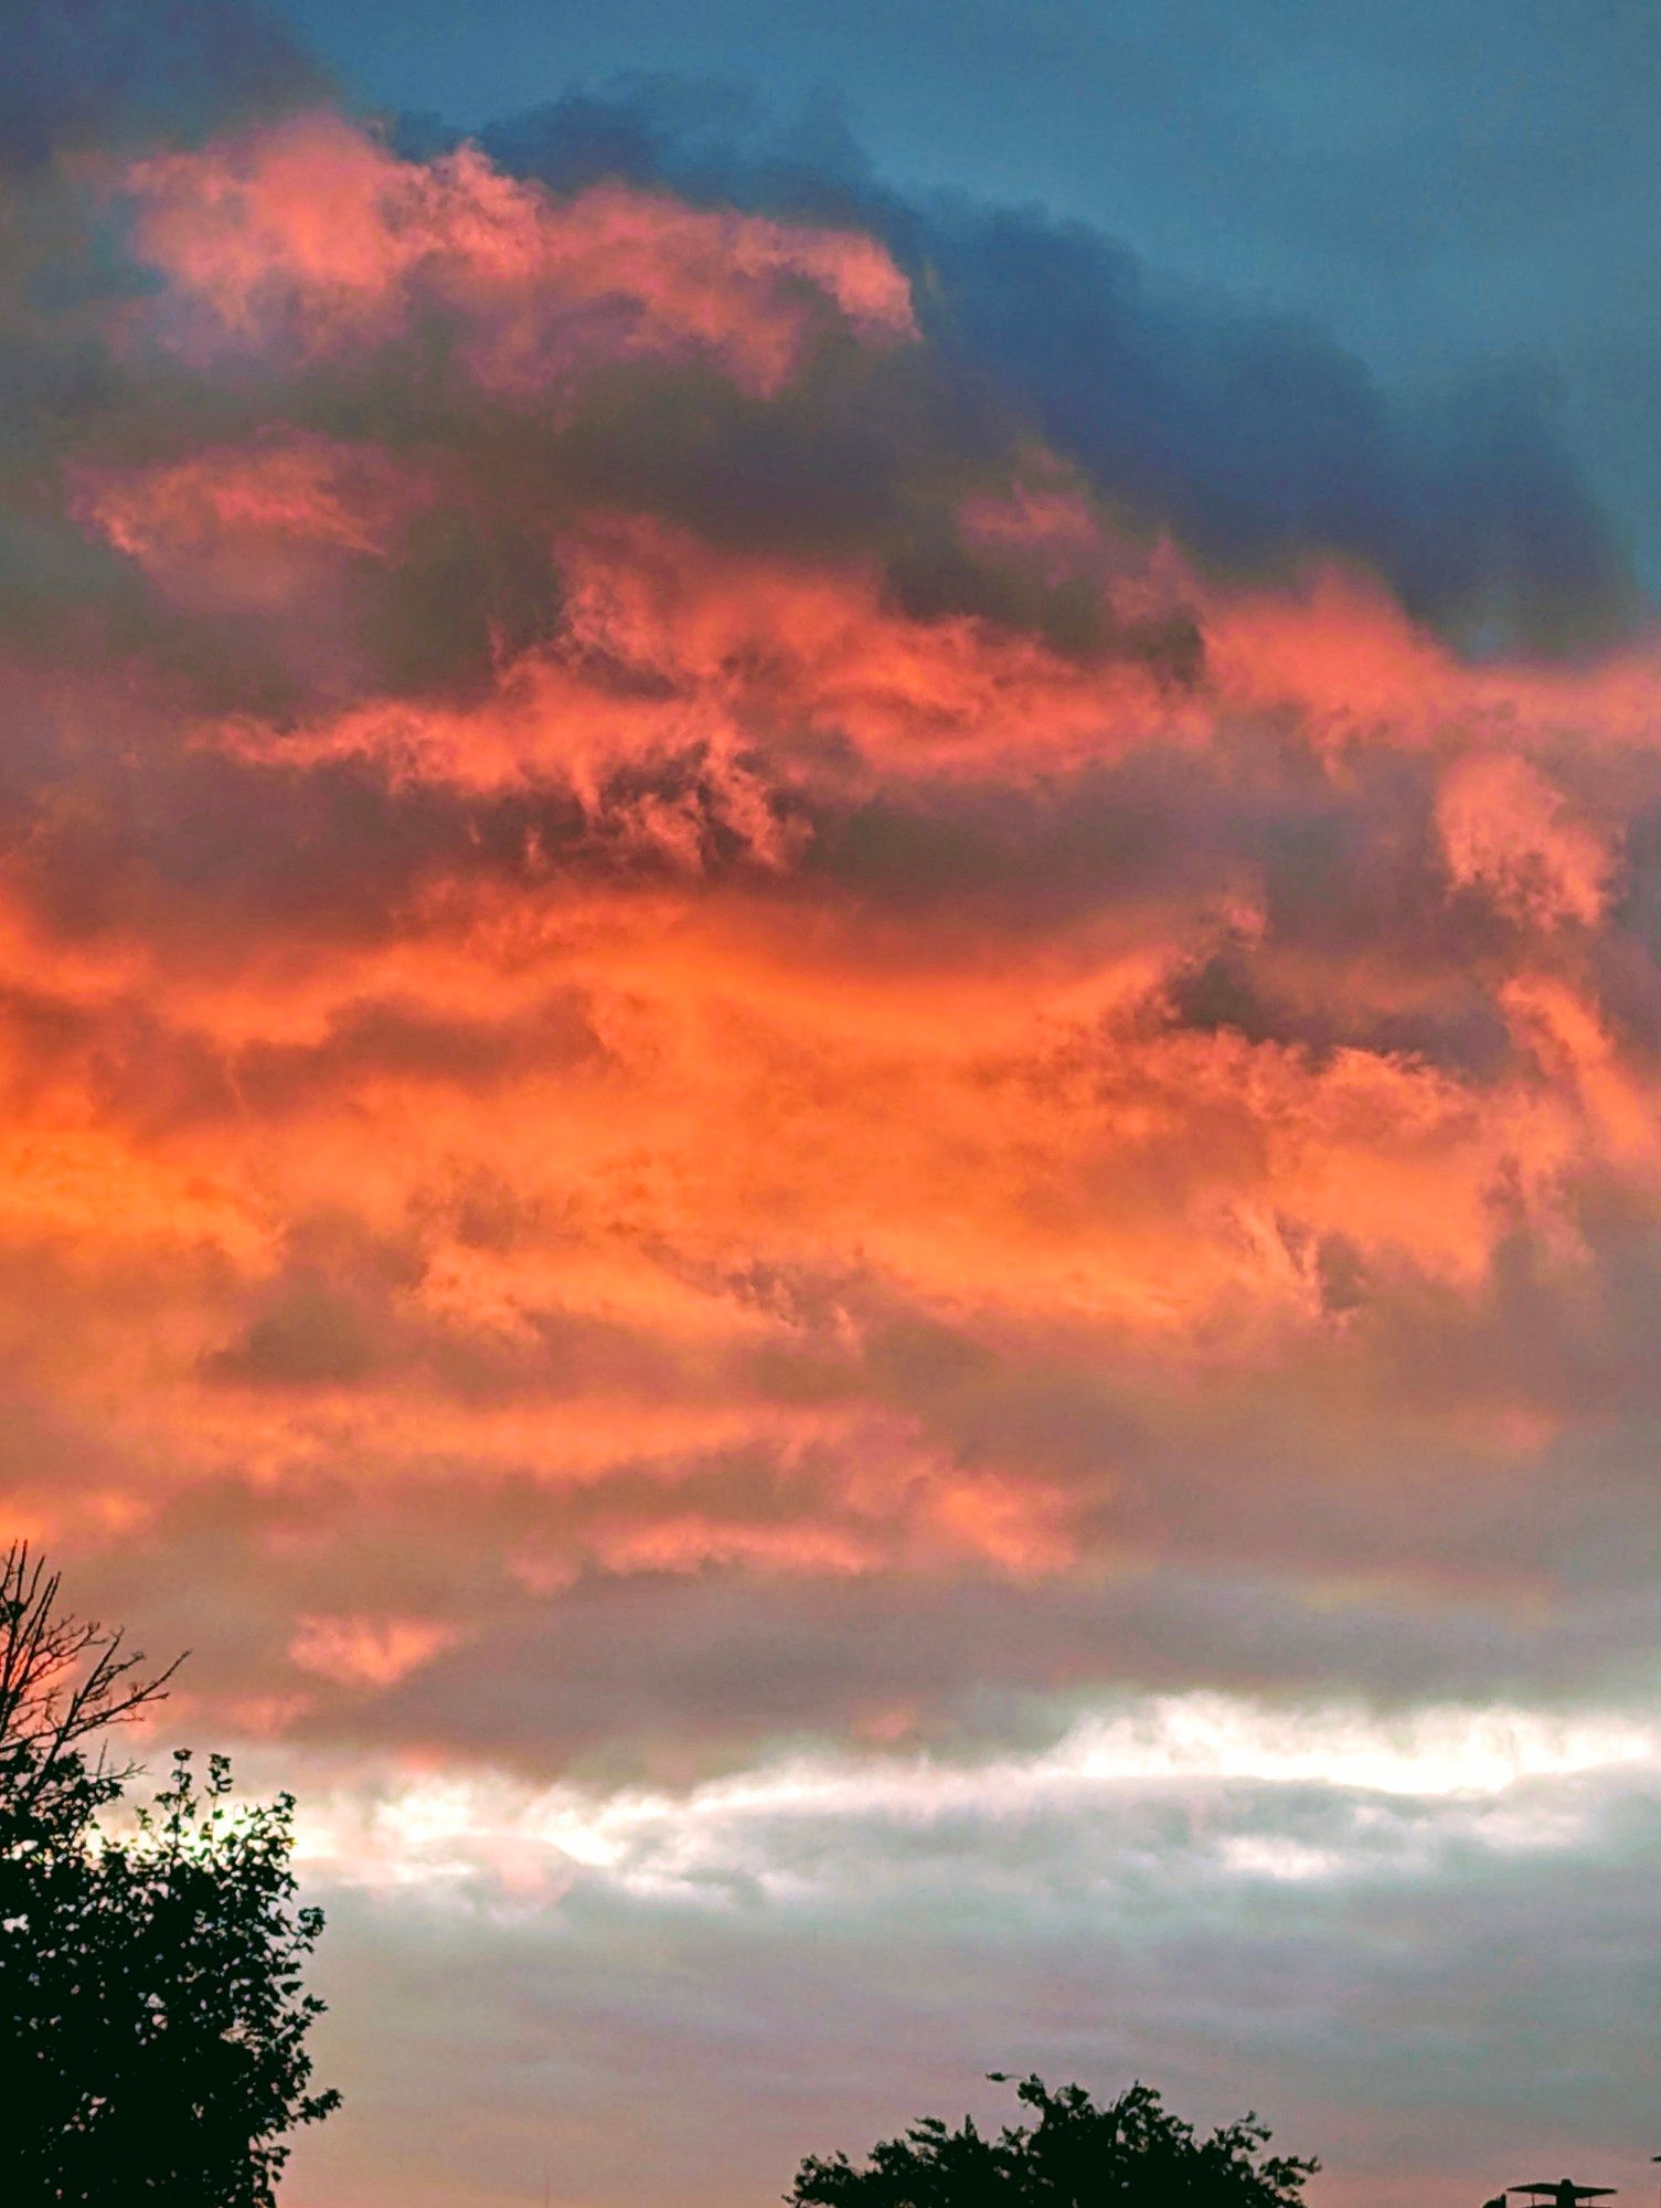
[[[844,230],[694,210],[599,185],[557,201],[477,150],[402,161],[314,113],[199,152],[139,161],[139,250],[188,325],[305,353],[373,344],[417,305],[457,316],[488,386],[563,389],[612,360],[705,355],[775,391],[830,320],[872,340],[914,331],[888,254]]]

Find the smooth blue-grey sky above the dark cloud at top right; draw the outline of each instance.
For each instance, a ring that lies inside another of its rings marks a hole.
[[[1484,364],[1544,380],[1544,404],[1657,576],[1661,448],[1652,300],[1661,139],[1654,15],[1502,0],[1219,0],[1157,13],[978,0],[941,35],[925,4],[800,13],[720,0],[574,7],[490,0],[464,35],[415,13],[289,0],[384,106],[479,128],[618,71],[742,77],[680,93],[671,135],[716,148],[773,132],[775,170],[839,168],[844,115],[908,192],[963,185],[1043,203],[1151,267],[1319,322],[1400,393]],[[420,29],[411,35],[411,22]],[[826,91],[828,88],[828,91]],[[588,137],[638,155],[592,102]]]

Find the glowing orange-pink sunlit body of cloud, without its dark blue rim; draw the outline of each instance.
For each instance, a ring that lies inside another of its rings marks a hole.
[[[592,1585],[1548,1579],[1475,1552],[1643,1384],[1650,647],[925,446],[846,230],[318,113],[128,188],[4,647],[20,1515],[210,1557],[322,1729]]]

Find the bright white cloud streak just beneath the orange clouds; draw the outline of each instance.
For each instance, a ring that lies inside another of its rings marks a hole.
[[[689,1791],[535,1786],[501,1773],[380,1766],[307,1791],[300,1859],[331,1883],[484,1881],[552,1899],[585,1875],[638,1894],[777,1899],[959,1859],[1135,1857],[1162,1822],[1173,1868],[1316,1879],[1407,1868],[1453,1841],[1564,1848],[1612,1793],[1661,1791],[1661,1724],[1617,1713],[1433,1707],[1270,1709],[1157,1696],[996,1760],[797,1753]],[[1175,1826],[1171,1830],[1175,1813]],[[1069,1850],[1071,1853],[1071,1850]]]

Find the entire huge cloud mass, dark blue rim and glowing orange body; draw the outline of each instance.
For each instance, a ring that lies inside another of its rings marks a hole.
[[[64,22],[0,1477],[181,1713],[652,1800],[1138,1691],[1619,1733],[1661,660],[1540,424],[658,95],[422,146]]]

